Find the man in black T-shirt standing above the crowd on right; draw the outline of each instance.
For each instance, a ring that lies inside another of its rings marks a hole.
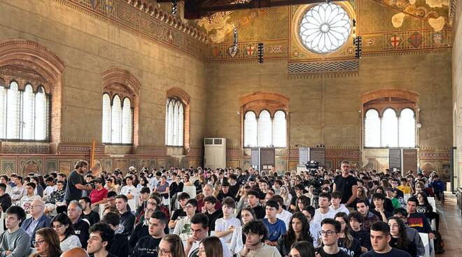
[[[340,203],[344,203],[348,207],[356,197],[358,184],[356,184],[356,179],[350,175],[350,163],[348,161],[342,161],[340,168],[342,168],[342,175],[335,177],[332,192],[339,191],[342,195]]]

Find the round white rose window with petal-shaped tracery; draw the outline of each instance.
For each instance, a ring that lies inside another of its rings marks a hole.
[[[320,3],[309,8],[300,22],[302,43],[319,54],[342,47],[350,33],[350,17],[344,8],[335,3]]]

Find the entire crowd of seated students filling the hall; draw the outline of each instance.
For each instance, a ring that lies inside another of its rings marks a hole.
[[[439,226],[428,196],[444,190],[435,173],[359,172],[347,161],[124,173],[94,176],[78,161],[69,177],[2,175],[0,257],[423,256],[419,233],[432,239],[430,221]]]

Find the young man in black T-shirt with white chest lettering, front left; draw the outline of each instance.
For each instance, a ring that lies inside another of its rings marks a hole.
[[[148,221],[149,235],[141,238],[134,247],[131,257],[157,257],[159,254],[159,243],[165,237],[165,226],[167,216],[163,212],[156,211]]]

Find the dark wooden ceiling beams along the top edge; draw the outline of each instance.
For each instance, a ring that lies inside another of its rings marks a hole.
[[[158,0],[158,3],[169,3],[172,0]],[[217,12],[268,8],[276,6],[292,6],[307,3],[321,3],[322,0],[184,0],[185,18],[197,20]]]

